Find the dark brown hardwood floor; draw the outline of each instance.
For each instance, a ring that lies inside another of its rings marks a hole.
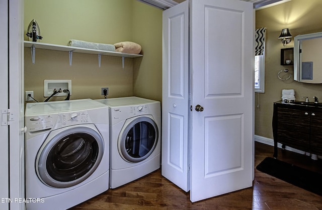
[[[273,156],[273,147],[255,142],[255,167],[268,156]],[[309,156],[281,149],[278,159],[322,174],[321,159],[311,160]],[[71,209],[322,209],[322,196],[255,168],[253,187],[192,203],[189,192],[184,192],[156,170]]]

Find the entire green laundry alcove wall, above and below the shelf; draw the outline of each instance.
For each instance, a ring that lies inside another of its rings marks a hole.
[[[67,45],[70,39],[115,44],[132,41],[142,46],[143,58],[73,53],[36,49],[32,64],[25,48],[25,90],[43,101],[45,79],[70,79],[71,99],[99,99],[101,87],[109,97],[141,96],[162,99],[162,10],[136,0],[25,0],[25,33],[32,19],[39,24],[42,43]],[[25,37],[28,40],[28,37]],[[51,100],[63,100],[53,97]]]

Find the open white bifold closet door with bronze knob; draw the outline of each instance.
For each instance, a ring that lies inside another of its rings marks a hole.
[[[237,0],[163,12],[162,174],[193,202],[252,186],[253,20]]]

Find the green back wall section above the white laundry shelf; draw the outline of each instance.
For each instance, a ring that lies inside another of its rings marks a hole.
[[[25,32],[32,19],[43,43],[69,39],[114,44],[132,40],[133,0],[25,0]],[[27,40],[27,37],[26,37]]]

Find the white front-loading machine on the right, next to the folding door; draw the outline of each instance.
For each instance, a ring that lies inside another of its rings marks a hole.
[[[110,108],[110,188],[160,167],[160,102],[138,97],[97,100]]]

